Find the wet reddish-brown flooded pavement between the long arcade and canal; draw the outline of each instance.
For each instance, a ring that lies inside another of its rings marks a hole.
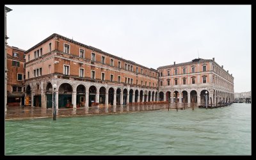
[[[179,109],[184,109],[184,104],[178,105]],[[118,113],[131,113],[138,111],[152,111],[159,109],[168,109],[168,104],[145,104],[145,105],[134,105],[134,106],[109,106],[108,109],[105,107],[97,108],[65,108],[57,110],[57,118],[61,116],[86,116],[86,115],[102,115],[102,114],[118,114]],[[170,105],[170,109],[176,109],[175,104]],[[185,109],[188,105],[185,105]],[[5,113],[5,119],[24,119],[24,118],[48,118],[52,117],[52,108],[40,108],[40,107],[9,107]]]

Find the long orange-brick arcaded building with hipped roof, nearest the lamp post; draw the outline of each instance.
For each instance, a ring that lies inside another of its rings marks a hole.
[[[26,51],[26,104],[52,108],[116,106],[157,99],[157,70],[52,34]],[[30,101],[29,101],[30,99]]]

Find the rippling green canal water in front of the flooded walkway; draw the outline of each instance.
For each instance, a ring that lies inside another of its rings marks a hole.
[[[251,104],[5,121],[6,155],[251,155]]]

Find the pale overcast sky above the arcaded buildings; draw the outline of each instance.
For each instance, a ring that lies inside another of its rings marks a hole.
[[[250,5],[6,5],[8,45],[28,50],[52,33],[145,67],[215,61],[251,90]]]

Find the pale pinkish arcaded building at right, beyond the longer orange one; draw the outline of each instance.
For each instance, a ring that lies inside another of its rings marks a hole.
[[[173,65],[157,68],[157,71],[160,100],[202,104],[207,93],[207,101],[212,100],[214,104],[234,101],[234,77],[214,58],[198,58],[179,64],[174,62]]]

